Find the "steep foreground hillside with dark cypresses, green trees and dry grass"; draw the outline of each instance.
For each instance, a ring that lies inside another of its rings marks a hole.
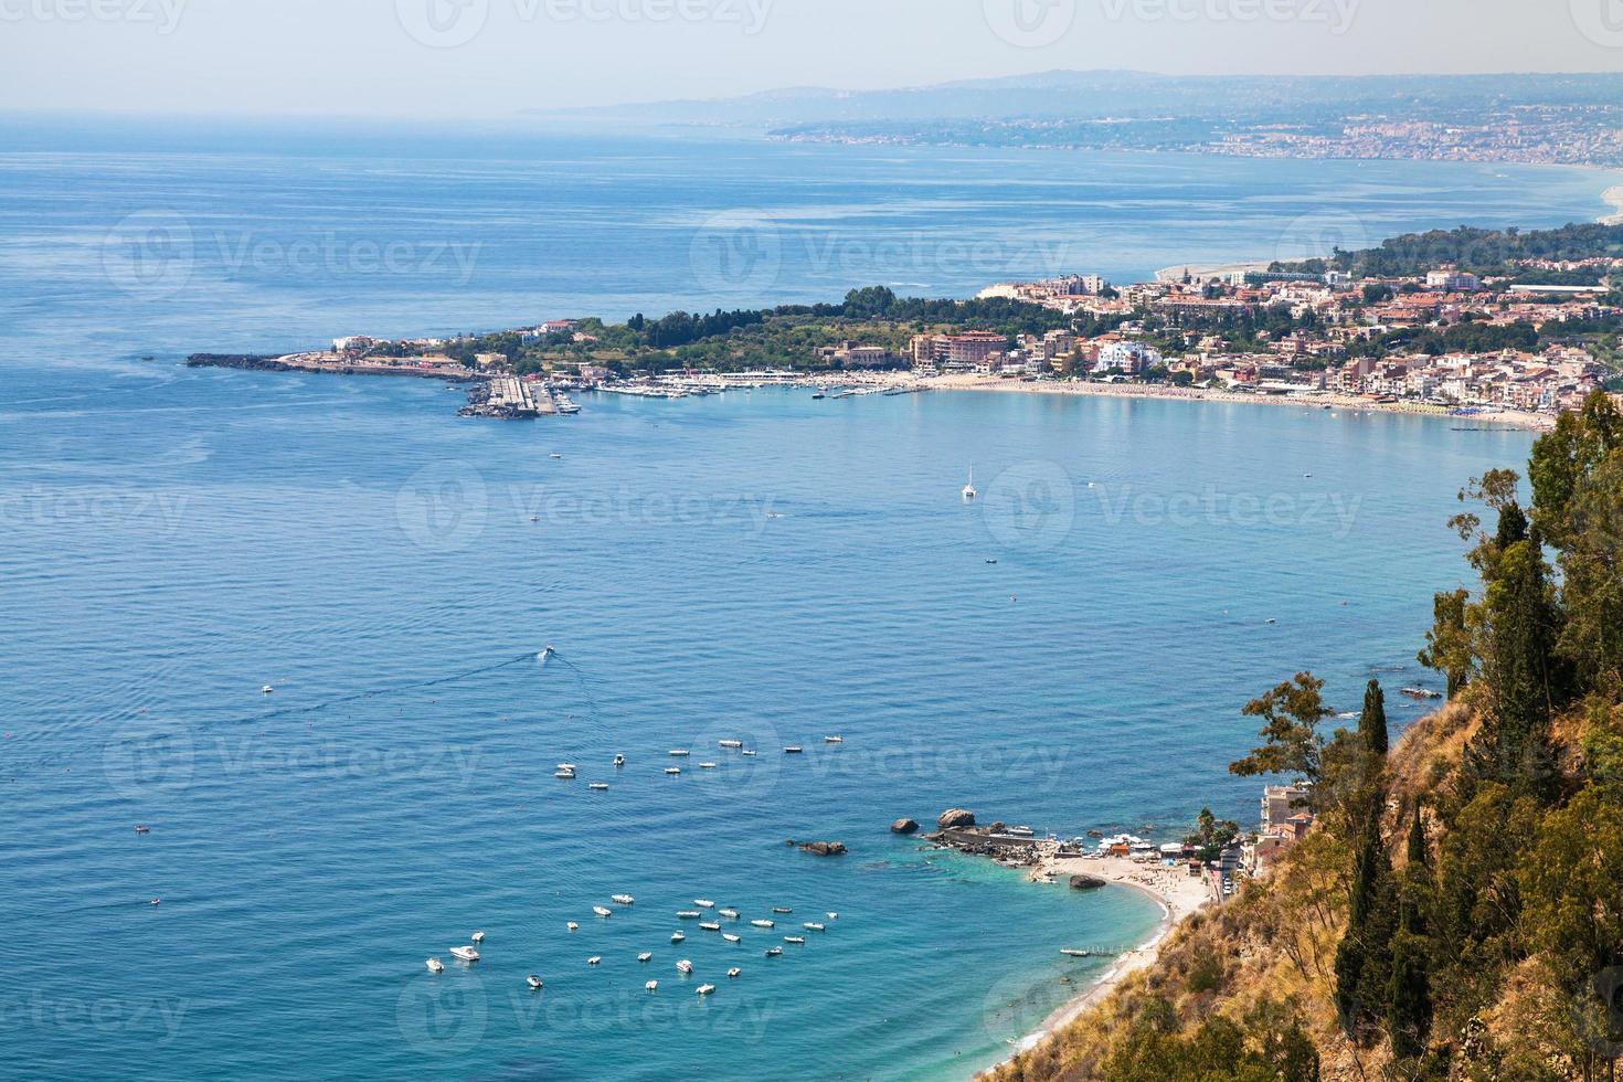
[[[1321,732],[1300,673],[1230,769],[1311,784],[1316,829],[1001,1082],[1615,1079],[1623,1054],[1623,417],[1605,394],[1453,521],[1479,587],[1420,660],[1451,702],[1388,748],[1371,681]]]

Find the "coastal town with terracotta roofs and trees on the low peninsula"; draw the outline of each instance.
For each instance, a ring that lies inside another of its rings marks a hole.
[[[188,363],[438,378],[471,388],[463,415],[497,419],[571,415],[581,407],[570,393],[802,386],[829,399],[1010,389],[1268,401],[1543,428],[1597,388],[1623,391],[1623,256],[1607,251],[1498,258],[1495,274],[1324,260],[1169,268],[1120,286],[1063,274],[992,284],[969,302],[872,287],[846,305],[549,320],[456,339],[346,336],[326,350]],[[927,318],[906,318],[914,311]]]

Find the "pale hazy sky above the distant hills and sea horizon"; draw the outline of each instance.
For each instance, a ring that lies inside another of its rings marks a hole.
[[[1623,0],[0,0],[0,107],[500,118],[1050,68],[1623,70]]]

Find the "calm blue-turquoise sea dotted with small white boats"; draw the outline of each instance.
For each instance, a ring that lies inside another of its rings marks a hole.
[[[11,1077],[967,1077],[1162,913],[889,824],[1253,821],[1240,707],[1313,672],[1337,711],[1375,676],[1417,717],[1396,689],[1436,685],[1456,493],[1530,443],[998,393],[502,423],[438,381],[187,354],[1131,281],[1586,221],[1618,183],[738,133],[0,136]],[[677,917],[696,899],[740,942]]]

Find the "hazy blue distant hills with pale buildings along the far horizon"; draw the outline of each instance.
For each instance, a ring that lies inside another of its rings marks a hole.
[[[534,114],[878,143],[1248,157],[1623,165],[1623,73],[1172,76],[1045,71],[896,91],[769,91]]]

